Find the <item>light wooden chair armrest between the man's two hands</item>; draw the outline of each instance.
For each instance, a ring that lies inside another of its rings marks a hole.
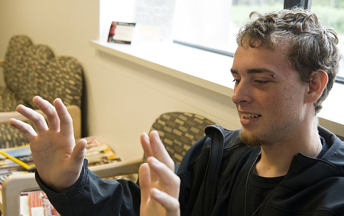
[[[130,161],[112,162],[97,166],[90,166],[89,169],[101,178],[138,173],[142,158]]]

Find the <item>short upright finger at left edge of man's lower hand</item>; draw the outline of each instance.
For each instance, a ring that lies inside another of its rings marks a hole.
[[[141,190],[141,203],[146,203],[150,199],[150,170],[148,163],[142,163],[138,169],[138,181]]]

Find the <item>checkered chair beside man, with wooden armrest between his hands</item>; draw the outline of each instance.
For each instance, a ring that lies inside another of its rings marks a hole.
[[[189,112],[167,112],[155,120],[151,130],[158,131],[168,154],[175,164],[180,164],[191,145],[205,135],[205,127],[214,124],[202,115]],[[91,170],[100,177],[115,176],[115,179],[124,178],[136,181],[138,167],[144,161],[145,156],[143,159],[93,166]]]

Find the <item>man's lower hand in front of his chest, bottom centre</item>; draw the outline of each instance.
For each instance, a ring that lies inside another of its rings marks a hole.
[[[157,131],[141,135],[147,163],[139,168],[141,216],[179,216],[180,178],[174,173],[174,162],[168,155]]]

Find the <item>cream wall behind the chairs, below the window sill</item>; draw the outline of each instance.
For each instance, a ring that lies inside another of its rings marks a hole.
[[[108,142],[125,159],[142,156],[139,135],[165,111],[203,114],[229,128],[239,127],[231,99],[157,71],[96,51],[98,0],[1,0],[0,58],[9,38],[27,34],[56,55],[82,63],[89,135]],[[1,83],[1,82],[0,82]]]

